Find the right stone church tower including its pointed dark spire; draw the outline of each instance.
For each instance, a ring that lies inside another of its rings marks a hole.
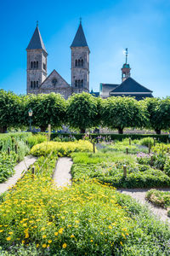
[[[71,86],[73,92],[89,92],[88,44],[82,29],[82,21],[71,44]]]

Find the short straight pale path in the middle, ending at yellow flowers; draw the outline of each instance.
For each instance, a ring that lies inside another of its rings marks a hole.
[[[54,183],[57,187],[71,185],[72,160],[69,157],[60,157],[54,171]]]

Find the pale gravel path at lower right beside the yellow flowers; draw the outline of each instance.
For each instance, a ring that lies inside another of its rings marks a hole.
[[[139,201],[142,204],[147,205],[150,208],[150,211],[154,213],[158,218],[160,218],[162,221],[167,221],[168,224],[170,224],[170,218],[167,217],[167,210],[163,209],[161,207],[156,207],[153,204],[151,204],[149,201],[145,200],[146,192],[150,189],[117,189],[119,192],[131,195],[136,201]],[[170,189],[159,189],[161,191],[169,191]]]

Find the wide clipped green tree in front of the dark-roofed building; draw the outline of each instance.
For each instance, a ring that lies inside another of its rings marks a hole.
[[[103,125],[118,129],[120,134],[125,127],[144,127],[147,124],[147,110],[143,101],[133,97],[110,97],[104,101],[102,111]]]

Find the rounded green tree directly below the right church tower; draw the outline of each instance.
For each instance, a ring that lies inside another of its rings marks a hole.
[[[100,100],[82,92],[71,96],[67,101],[66,118],[68,125],[85,133],[87,128],[99,125]]]

